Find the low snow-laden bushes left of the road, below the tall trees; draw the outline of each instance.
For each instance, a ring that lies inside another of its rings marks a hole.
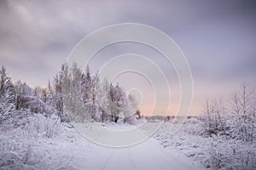
[[[35,168],[45,156],[36,150],[40,141],[61,135],[59,116],[32,114],[30,110],[15,111],[13,117],[1,124],[0,169]],[[52,140],[52,139],[51,139]]]

